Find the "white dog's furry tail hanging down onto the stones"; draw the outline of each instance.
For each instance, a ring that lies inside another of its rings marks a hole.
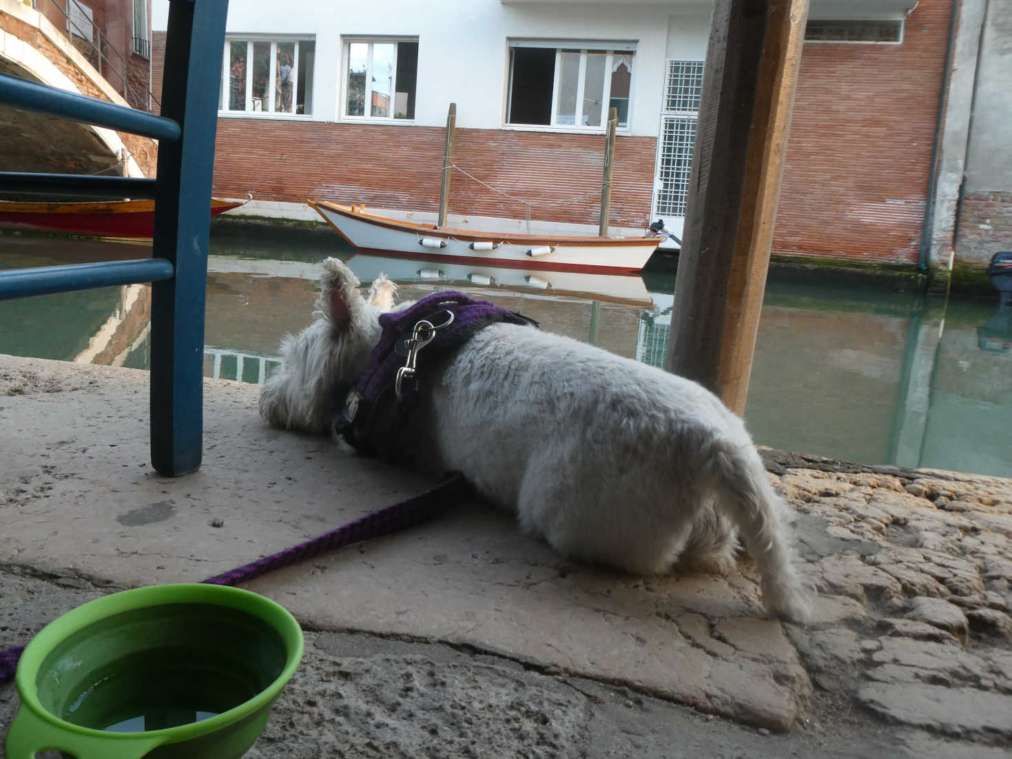
[[[759,565],[766,610],[794,621],[810,618],[811,589],[798,572],[787,505],[770,485],[755,446],[718,437],[706,459],[721,505]]]

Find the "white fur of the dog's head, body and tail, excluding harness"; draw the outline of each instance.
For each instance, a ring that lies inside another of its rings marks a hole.
[[[367,299],[339,260],[323,263],[316,319],[282,345],[260,413],[272,425],[332,428],[336,386],[354,381],[395,309],[381,275]],[[402,304],[400,310],[410,304]],[[530,327],[497,324],[438,365],[419,365],[423,450],[457,470],[561,553],[635,574],[676,561],[727,565],[740,534],[767,610],[805,619],[786,506],[742,420],[696,383]]]

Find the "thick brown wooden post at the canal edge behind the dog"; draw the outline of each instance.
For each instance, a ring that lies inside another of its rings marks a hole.
[[[665,367],[745,412],[809,0],[715,0]]]

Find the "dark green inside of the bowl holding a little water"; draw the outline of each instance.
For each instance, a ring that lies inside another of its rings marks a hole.
[[[253,698],[284,661],[280,637],[250,614],[170,604],[72,636],[43,668],[39,695],[53,713],[83,728],[165,730]]]

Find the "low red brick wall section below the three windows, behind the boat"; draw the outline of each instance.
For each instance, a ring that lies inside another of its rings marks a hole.
[[[215,193],[261,200],[307,198],[415,212],[439,209],[445,130],[268,118],[218,120]],[[619,137],[612,224],[646,226],[657,141]],[[456,130],[453,163],[533,203],[531,219],[596,224],[604,138],[506,130]],[[454,214],[523,219],[524,206],[459,172]]]

